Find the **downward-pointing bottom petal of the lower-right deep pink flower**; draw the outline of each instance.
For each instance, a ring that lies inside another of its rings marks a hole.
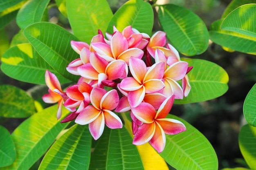
[[[164,150],[166,144],[166,137],[164,134],[164,130],[159,124],[157,124],[157,122],[155,125],[155,134],[152,139],[150,139],[149,144],[153,146],[153,148],[155,148],[158,153]]]

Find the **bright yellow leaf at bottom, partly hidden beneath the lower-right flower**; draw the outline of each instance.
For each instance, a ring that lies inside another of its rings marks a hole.
[[[121,113],[124,119],[124,126],[133,137],[132,134],[132,122],[128,120],[125,113]],[[141,161],[144,166],[144,170],[169,170],[164,159],[155,151],[155,149],[148,143],[143,145],[137,145]]]

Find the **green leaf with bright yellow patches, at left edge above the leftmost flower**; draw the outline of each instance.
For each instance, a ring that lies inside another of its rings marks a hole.
[[[4,74],[22,82],[45,84],[45,70],[54,73],[61,83],[70,82],[43,60],[30,43],[13,46],[4,53],[1,60]]]

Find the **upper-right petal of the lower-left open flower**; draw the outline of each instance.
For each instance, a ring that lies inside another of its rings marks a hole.
[[[100,108],[106,110],[113,110],[117,107],[118,102],[119,95],[117,93],[117,90],[113,89],[111,91],[108,91],[105,95],[103,95],[100,102]]]

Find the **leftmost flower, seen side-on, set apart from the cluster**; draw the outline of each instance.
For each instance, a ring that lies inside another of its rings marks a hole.
[[[62,91],[61,84],[56,75],[48,70],[45,71],[45,83],[49,88],[49,94],[43,95],[42,99],[45,103],[52,104],[58,102],[57,119],[60,119],[62,114],[62,104],[67,99],[67,95]]]

